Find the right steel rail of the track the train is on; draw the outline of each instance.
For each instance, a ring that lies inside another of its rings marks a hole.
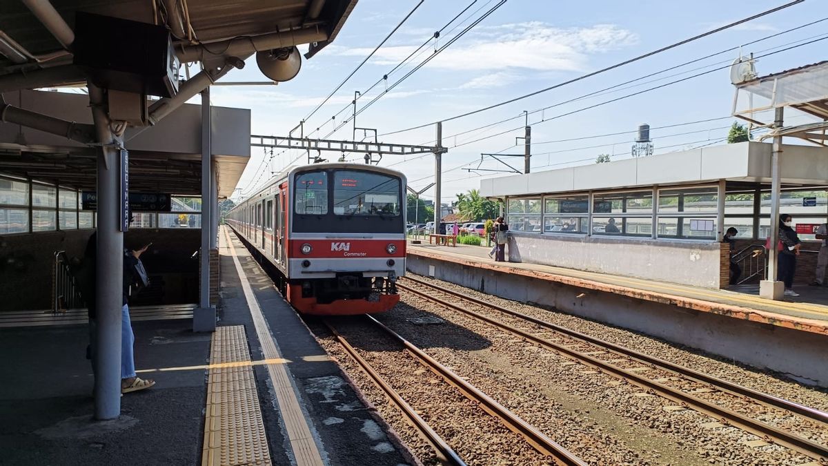
[[[386,333],[388,333],[388,335],[397,340],[397,342],[400,342],[402,346],[404,346],[408,352],[411,352],[412,355],[416,356],[424,366],[428,367],[438,376],[443,377],[445,381],[455,386],[466,398],[474,401],[481,409],[489,413],[489,415],[493,415],[501,420],[509,430],[512,430],[516,434],[522,435],[522,437],[526,439],[534,449],[537,449],[538,452],[552,457],[555,459],[557,464],[586,466],[586,463],[582,459],[575,456],[575,454],[570,453],[569,450],[565,449],[560,444],[557,444],[540,430],[537,430],[536,427],[528,424],[525,420],[522,420],[492,397],[486,395],[483,391],[480,391],[477,387],[471,385],[468,381],[465,381],[453,371],[450,371],[448,367],[443,366],[440,362],[437,362],[436,359],[430,357],[426,354],[426,352],[423,352],[412,342],[409,342],[404,337],[394,332],[391,328],[386,327],[376,318],[373,318],[370,315],[366,315],[365,318],[377,325],[379,328],[382,328]]]

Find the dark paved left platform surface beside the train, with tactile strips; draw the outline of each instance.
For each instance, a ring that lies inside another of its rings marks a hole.
[[[91,420],[85,318],[0,328],[14,355],[0,361],[0,463],[412,463],[248,250],[219,233],[219,328],[135,319],[137,374],[156,386],[125,394],[118,420]]]

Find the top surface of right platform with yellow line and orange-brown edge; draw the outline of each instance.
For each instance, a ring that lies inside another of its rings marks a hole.
[[[828,335],[828,289],[802,286],[797,288],[797,292],[802,294],[799,298],[786,297],[784,301],[773,301],[759,298],[758,287],[705,289],[549,265],[495,262],[489,258],[488,253],[489,248],[481,246],[408,245],[408,254],[412,255],[454,260],[464,265],[497,269],[583,289],[608,291],[629,298]],[[816,303],[806,302],[811,300]]]

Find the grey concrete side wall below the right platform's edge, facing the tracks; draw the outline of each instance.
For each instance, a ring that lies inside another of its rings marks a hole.
[[[646,333],[805,383],[828,386],[828,337],[409,255],[407,267],[480,292]],[[433,274],[432,274],[433,273]]]

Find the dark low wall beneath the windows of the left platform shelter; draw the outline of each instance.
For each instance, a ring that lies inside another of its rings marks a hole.
[[[72,258],[84,255],[92,230],[50,231],[0,236],[0,312],[49,309],[52,267],[56,250]],[[133,303],[185,304],[198,301],[198,260],[190,255],[200,247],[200,230],[132,230],[128,247],[152,242],[142,262],[152,284]]]

